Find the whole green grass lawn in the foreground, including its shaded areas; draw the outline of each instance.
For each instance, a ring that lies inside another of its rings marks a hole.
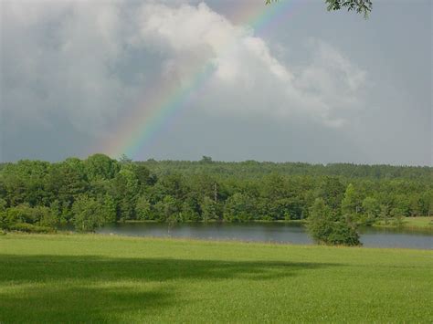
[[[433,253],[0,236],[0,322],[431,322]]]

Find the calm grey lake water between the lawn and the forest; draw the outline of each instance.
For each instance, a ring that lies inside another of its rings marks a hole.
[[[129,236],[190,237],[212,240],[242,240],[278,242],[299,245],[312,244],[301,225],[284,223],[198,223],[176,224],[129,223],[106,225],[98,233]],[[364,228],[361,242],[372,247],[406,247],[433,249],[433,235],[408,230]]]

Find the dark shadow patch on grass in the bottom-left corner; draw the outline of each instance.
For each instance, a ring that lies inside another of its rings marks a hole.
[[[170,307],[173,292],[133,287],[86,287],[86,283],[27,286],[0,293],[1,323],[103,323],[140,318]]]

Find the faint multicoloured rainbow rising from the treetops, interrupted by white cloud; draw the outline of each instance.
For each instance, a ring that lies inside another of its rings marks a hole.
[[[265,1],[243,5],[232,19],[237,25],[250,26],[255,35],[280,26],[301,4],[301,0],[280,0],[272,5]],[[227,44],[227,49],[230,45]],[[188,71],[188,78],[182,81],[161,78],[152,90],[147,89],[146,97],[135,107],[131,114],[124,116],[114,131],[114,136],[100,143],[97,152],[104,152],[113,158],[122,154],[135,159],[151,144],[156,134],[171,123],[187,106],[192,95],[206,85],[215,71],[212,59],[196,62]]]

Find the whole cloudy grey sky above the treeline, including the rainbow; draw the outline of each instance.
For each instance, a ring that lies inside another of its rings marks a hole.
[[[0,162],[432,166],[431,1],[0,5]]]

